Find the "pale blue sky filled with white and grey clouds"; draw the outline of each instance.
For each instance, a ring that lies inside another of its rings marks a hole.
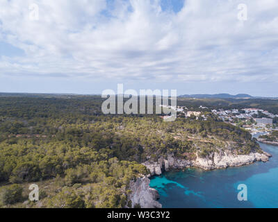
[[[278,96],[278,1],[0,0],[0,92],[119,83]]]

